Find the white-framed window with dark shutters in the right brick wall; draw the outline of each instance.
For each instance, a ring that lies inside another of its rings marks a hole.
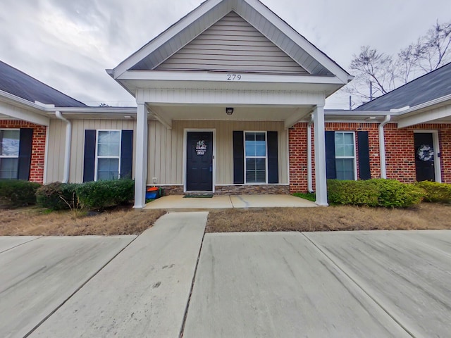
[[[338,180],[357,180],[354,132],[335,132],[335,170]]]

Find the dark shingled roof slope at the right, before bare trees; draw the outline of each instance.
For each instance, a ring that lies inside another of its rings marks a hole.
[[[414,107],[451,94],[451,63],[404,84],[354,111],[390,111]]]

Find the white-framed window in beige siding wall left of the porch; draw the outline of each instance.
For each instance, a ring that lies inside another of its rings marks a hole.
[[[121,130],[97,130],[96,181],[117,180],[121,168]]]

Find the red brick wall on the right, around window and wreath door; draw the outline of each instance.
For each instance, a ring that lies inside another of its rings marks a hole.
[[[379,157],[379,123],[326,123],[326,131],[355,132],[357,177],[359,177],[359,155],[357,132],[367,131],[371,177],[381,177]],[[313,187],[315,187],[314,128],[312,127]],[[415,130],[438,130],[442,182],[451,183],[451,128],[446,124],[422,124],[397,129],[395,123],[385,125],[385,158],[387,178],[412,183],[415,172]],[[297,123],[289,130],[290,192],[307,192],[307,123]]]

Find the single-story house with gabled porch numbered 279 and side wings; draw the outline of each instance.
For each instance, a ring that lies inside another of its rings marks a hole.
[[[107,70],[137,107],[88,107],[3,72],[0,142],[15,146],[0,151],[1,178],[132,177],[135,208],[149,185],[314,191],[327,205],[327,178],[451,183],[450,64],[354,111],[325,111],[352,76],[259,0],[207,0]]]

